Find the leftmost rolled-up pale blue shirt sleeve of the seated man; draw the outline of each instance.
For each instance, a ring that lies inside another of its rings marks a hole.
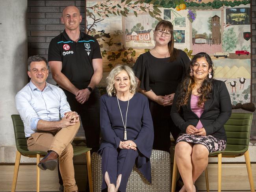
[[[19,111],[24,124],[31,127],[32,130],[37,130],[37,122],[40,120],[37,113],[31,106],[27,94],[18,92],[15,96],[16,109]]]

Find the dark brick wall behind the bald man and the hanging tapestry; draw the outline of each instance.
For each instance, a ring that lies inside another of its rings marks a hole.
[[[77,6],[83,20],[81,30],[85,28],[85,0],[28,0],[28,56],[41,54],[47,58],[51,39],[64,30],[61,24],[61,12],[65,6]],[[252,102],[256,105],[256,1],[252,0]],[[51,74],[49,83],[55,83]],[[239,110],[239,112],[245,112]],[[256,113],[252,122],[251,137],[256,140]]]

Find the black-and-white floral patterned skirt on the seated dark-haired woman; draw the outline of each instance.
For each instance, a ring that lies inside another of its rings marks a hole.
[[[189,135],[187,133],[181,134],[176,143],[185,141],[193,144],[201,144],[207,147],[209,153],[214,151],[223,151],[226,148],[226,141],[220,138],[215,138],[211,135],[200,136],[200,135]]]

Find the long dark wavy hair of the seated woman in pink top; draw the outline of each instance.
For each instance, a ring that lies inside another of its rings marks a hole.
[[[211,68],[211,78],[209,78],[208,76],[204,79],[204,81],[202,82],[201,87],[197,90],[198,93],[201,93],[201,95],[199,96],[199,100],[197,103],[198,107],[202,107],[203,103],[206,102],[206,100],[209,100],[211,98],[211,92],[212,92],[212,86],[213,86],[213,62],[211,60],[211,57],[204,53],[204,52],[200,52],[198,54],[196,54],[193,59],[190,62],[190,68],[188,69],[187,72],[187,76],[186,78],[184,78],[184,80],[180,83],[179,87],[178,87],[178,98],[176,101],[176,105],[178,108],[178,111],[180,110],[181,106],[187,105],[188,104],[188,100],[189,97],[192,93],[192,90],[195,88],[196,86],[196,81],[195,81],[195,77],[194,76],[190,76],[189,74],[191,73],[191,69],[194,66],[194,64],[196,63],[197,59],[204,57],[209,65],[208,70]]]

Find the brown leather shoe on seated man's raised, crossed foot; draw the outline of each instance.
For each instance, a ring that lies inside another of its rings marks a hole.
[[[49,151],[47,155],[37,164],[41,170],[54,170],[58,164],[58,154],[55,151]]]

